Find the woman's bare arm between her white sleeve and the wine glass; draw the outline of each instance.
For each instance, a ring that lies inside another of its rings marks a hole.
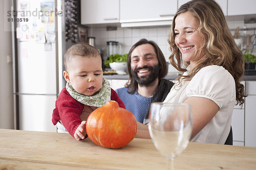
[[[195,137],[215,116],[219,107],[210,99],[204,97],[189,97],[184,103],[191,105],[193,127],[191,138]]]

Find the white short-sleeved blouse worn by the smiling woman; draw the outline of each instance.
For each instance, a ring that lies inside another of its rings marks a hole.
[[[187,75],[190,66],[183,75]],[[236,85],[232,75],[222,66],[201,68],[191,81],[172,87],[164,102],[184,102],[189,97],[204,97],[215,102],[219,110],[212,120],[190,142],[224,144],[230,132]]]

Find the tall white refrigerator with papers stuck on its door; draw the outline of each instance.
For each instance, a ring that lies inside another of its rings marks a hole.
[[[52,110],[62,76],[64,0],[12,0],[15,129],[56,132]]]

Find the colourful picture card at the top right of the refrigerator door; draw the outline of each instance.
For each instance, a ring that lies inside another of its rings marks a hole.
[[[53,23],[51,17],[54,17],[53,2],[41,2],[42,23]]]

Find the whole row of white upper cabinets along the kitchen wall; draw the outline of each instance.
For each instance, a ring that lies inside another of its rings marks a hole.
[[[171,25],[177,8],[188,1],[81,0],[81,24],[113,23],[118,26],[121,23],[121,27]],[[216,1],[225,16],[256,14],[256,0]]]

